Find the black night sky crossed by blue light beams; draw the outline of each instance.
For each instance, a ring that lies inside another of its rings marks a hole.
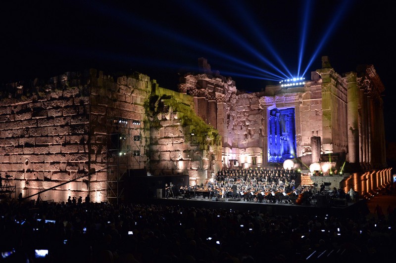
[[[391,83],[395,15],[382,0],[10,1],[2,3],[1,79],[48,79],[96,68],[138,71],[176,90],[179,72],[198,58],[231,76],[238,89],[321,68],[336,72],[373,64],[385,85],[386,136],[396,141]],[[392,49],[391,49],[392,48]],[[289,71],[289,73],[287,72]],[[292,77],[291,76],[291,77]]]

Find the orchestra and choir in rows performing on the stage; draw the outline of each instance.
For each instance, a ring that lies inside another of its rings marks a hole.
[[[245,202],[305,204],[312,199],[310,186],[296,185],[298,172],[283,168],[225,169],[212,173],[204,183],[180,186],[185,198],[219,200],[240,199]]]

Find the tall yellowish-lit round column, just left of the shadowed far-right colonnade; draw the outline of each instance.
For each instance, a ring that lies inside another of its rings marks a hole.
[[[347,128],[348,155],[350,163],[359,162],[359,89],[356,85],[356,72],[347,73]]]

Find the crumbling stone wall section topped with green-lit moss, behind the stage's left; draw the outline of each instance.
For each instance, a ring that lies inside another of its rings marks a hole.
[[[195,114],[193,97],[156,88],[150,97],[150,171],[202,183],[221,157],[221,137]]]

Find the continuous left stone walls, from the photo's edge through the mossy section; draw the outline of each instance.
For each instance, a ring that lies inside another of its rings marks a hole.
[[[193,98],[143,74],[114,79],[92,69],[11,83],[0,95],[0,173],[15,185],[11,198],[118,201],[131,191],[126,177],[190,175],[200,183],[221,156],[217,131],[188,123]]]

